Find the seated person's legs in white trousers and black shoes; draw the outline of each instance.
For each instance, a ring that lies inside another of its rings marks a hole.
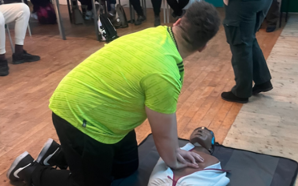
[[[8,64],[5,58],[5,24],[15,21],[15,53],[12,63],[36,62],[39,56],[28,54],[24,49],[24,39],[30,17],[29,7],[25,3],[3,4],[0,0],[0,76],[8,75]]]

